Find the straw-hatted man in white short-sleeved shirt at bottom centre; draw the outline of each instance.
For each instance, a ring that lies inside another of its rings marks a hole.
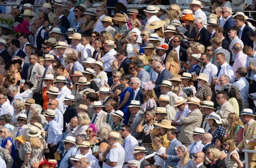
[[[119,143],[121,135],[117,131],[110,131],[108,135],[108,148],[103,155],[99,157],[99,161],[103,161],[102,167],[122,167],[124,164],[125,151],[122,145]],[[115,145],[116,148],[111,148],[112,145]]]

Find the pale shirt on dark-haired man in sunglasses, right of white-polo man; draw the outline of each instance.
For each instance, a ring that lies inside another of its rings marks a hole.
[[[124,141],[125,141],[125,146],[124,145]],[[123,148],[125,151],[125,157],[124,157],[124,162],[128,162],[134,159],[133,156],[133,151],[135,147],[138,147],[138,141],[136,140],[135,137],[133,137],[131,134],[128,135],[124,140],[123,140]]]

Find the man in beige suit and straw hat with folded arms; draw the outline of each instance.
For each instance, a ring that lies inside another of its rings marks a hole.
[[[199,110],[200,99],[196,97],[191,97],[187,102],[188,109],[191,110],[187,116],[180,118],[180,135],[178,140],[181,141],[185,146],[190,145],[193,142],[193,137],[191,134],[191,129],[194,130],[196,127],[200,127],[202,123],[202,112]]]

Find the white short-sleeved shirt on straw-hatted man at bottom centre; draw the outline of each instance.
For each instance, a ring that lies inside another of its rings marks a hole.
[[[106,156],[106,159],[108,159],[110,162],[116,162],[117,164],[116,166],[112,167],[103,162],[103,168],[121,168],[124,164],[124,148],[120,145],[119,142],[114,143],[113,145],[117,145],[117,148],[110,149],[109,153]]]

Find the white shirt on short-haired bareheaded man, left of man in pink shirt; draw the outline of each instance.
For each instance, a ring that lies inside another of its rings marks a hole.
[[[229,76],[229,79],[230,79],[229,83],[234,83],[234,81],[235,81],[234,71],[233,71],[232,67],[227,62],[225,62],[221,65],[221,69],[219,71],[219,75],[217,76],[217,79],[219,80],[219,78],[222,75]],[[221,85],[220,84],[215,85],[215,89],[220,91]]]

